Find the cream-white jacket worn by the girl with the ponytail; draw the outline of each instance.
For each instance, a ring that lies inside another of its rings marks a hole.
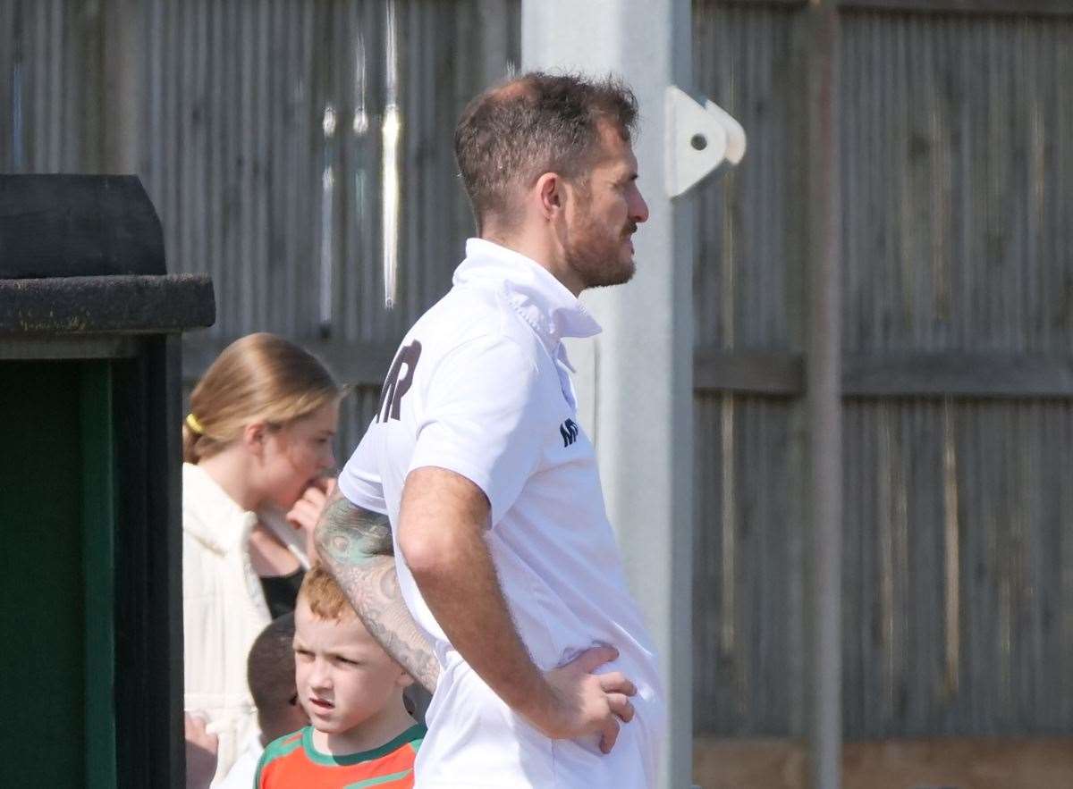
[[[183,708],[204,714],[208,732],[219,738],[214,785],[258,731],[246,659],[270,621],[261,579],[250,564],[250,532],[258,521],[204,470],[182,464]],[[309,566],[295,530],[279,518],[262,516],[260,521],[303,567]]]

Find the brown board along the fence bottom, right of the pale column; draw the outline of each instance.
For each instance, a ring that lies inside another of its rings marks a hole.
[[[1073,786],[1073,739],[935,738],[846,743],[846,789],[1041,789]],[[704,789],[805,789],[805,745],[795,740],[693,743],[693,783]]]

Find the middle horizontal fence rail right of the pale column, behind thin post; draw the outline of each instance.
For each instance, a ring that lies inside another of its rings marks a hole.
[[[697,348],[696,391],[800,397],[799,354]],[[903,353],[847,355],[844,397],[1073,398],[1073,356]]]

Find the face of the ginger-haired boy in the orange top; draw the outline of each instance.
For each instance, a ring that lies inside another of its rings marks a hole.
[[[318,731],[342,734],[377,718],[412,682],[354,614],[322,620],[299,599],[294,625],[298,700]]]

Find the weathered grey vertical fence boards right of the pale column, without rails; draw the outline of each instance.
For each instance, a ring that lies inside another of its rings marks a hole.
[[[699,206],[697,343],[804,345],[798,11],[696,4],[750,132]],[[847,353],[1070,353],[1073,20],[841,12]],[[800,734],[803,414],[697,396],[699,731]],[[1073,403],[853,399],[849,738],[1073,731]]]

